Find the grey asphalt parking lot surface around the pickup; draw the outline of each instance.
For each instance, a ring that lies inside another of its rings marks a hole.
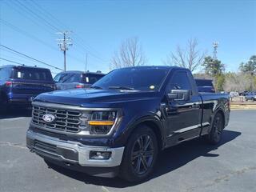
[[[256,191],[256,110],[233,110],[218,146],[202,139],[162,152],[152,177],[131,184],[50,169],[26,149],[30,111],[0,116],[0,191]]]

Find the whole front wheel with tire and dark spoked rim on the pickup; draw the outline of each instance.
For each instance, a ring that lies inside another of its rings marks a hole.
[[[121,178],[139,182],[153,171],[158,156],[158,141],[148,126],[139,126],[131,134],[122,158]]]

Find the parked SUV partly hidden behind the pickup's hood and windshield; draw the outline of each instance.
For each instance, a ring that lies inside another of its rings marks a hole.
[[[68,90],[74,88],[88,88],[94,82],[97,82],[100,78],[104,77],[100,71],[93,72],[82,72],[77,70],[69,70],[61,72],[54,77],[58,90]]]

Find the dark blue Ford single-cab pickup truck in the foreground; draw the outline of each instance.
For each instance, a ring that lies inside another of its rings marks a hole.
[[[222,138],[226,94],[198,94],[190,70],[137,66],[113,70],[90,89],[57,90],[34,99],[27,147],[45,159],[94,176],[134,182],[154,170],[167,147]]]

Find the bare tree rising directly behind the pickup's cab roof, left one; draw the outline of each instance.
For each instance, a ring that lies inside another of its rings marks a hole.
[[[139,45],[138,38],[127,38],[122,42],[119,51],[115,52],[110,62],[113,68],[144,65],[146,57],[143,54],[142,46]]]

